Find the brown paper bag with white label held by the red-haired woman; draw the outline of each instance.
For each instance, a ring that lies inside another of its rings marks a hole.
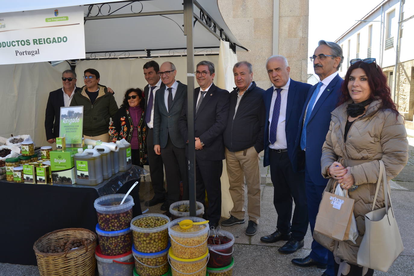
[[[349,240],[353,211],[354,199],[324,192],[313,231],[334,240]]]

